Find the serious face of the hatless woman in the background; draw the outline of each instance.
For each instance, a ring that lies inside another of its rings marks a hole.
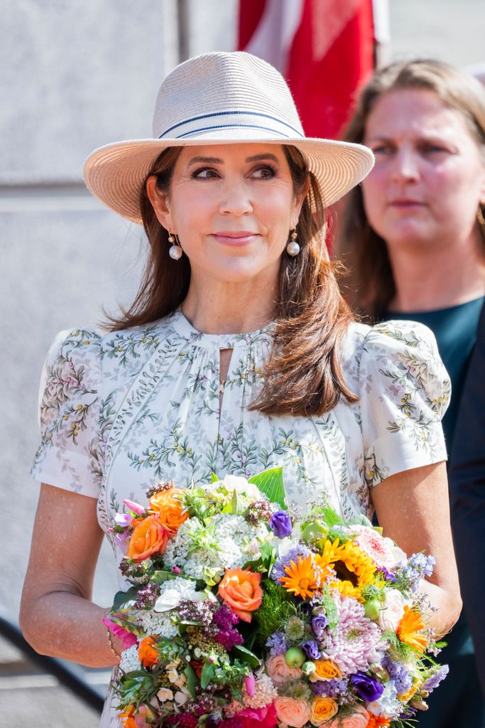
[[[367,119],[375,154],[362,183],[372,228],[392,245],[467,245],[485,202],[485,166],[465,117],[428,90],[383,95]]]

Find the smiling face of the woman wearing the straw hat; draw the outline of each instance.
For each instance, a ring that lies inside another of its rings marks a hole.
[[[276,280],[302,205],[281,146],[187,146],[175,163],[168,198],[155,194],[154,179],[147,189],[157,218],[177,234],[193,275],[246,282],[268,274]]]

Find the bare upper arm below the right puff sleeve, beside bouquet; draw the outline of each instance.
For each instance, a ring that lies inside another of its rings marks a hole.
[[[446,464],[417,467],[391,475],[372,489],[372,499],[384,535],[407,555],[425,551],[436,558],[431,581],[458,592]]]

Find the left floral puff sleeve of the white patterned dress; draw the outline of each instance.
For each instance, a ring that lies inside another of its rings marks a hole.
[[[56,336],[41,376],[41,443],[31,470],[36,480],[94,498],[103,474],[100,355],[100,336],[94,331]]]

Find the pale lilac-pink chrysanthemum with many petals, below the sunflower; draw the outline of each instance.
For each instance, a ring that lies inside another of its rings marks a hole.
[[[379,627],[364,614],[364,607],[356,599],[335,593],[338,624],[326,633],[322,649],[342,674],[368,670],[369,665],[380,663],[385,643]]]

